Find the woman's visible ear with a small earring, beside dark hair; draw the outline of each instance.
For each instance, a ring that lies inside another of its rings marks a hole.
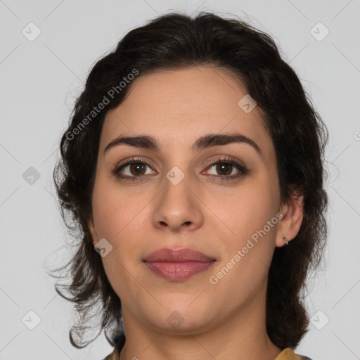
[[[293,240],[300,230],[303,219],[304,196],[293,193],[288,202],[281,206],[280,212],[283,217],[280,219],[276,232],[276,246],[281,248],[286,245],[283,237],[289,241]]]

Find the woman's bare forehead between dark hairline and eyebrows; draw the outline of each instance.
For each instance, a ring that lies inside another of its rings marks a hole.
[[[263,113],[245,113],[238,103],[248,96],[244,86],[219,68],[161,70],[131,83],[121,105],[110,110],[101,134],[101,149],[120,135],[149,134],[165,145],[191,146],[203,134],[240,132],[271,150]]]

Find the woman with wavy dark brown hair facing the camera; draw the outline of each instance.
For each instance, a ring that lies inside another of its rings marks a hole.
[[[243,21],[170,13],[129,32],[91,70],[54,171],[79,230],[56,287],[80,316],[72,345],[100,319],[106,359],[309,359],[294,349],[327,235],[327,136]]]

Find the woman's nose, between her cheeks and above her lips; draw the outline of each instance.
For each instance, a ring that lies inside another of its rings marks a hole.
[[[202,202],[185,176],[179,184],[164,179],[163,190],[155,202],[153,223],[158,229],[193,231],[202,226]]]

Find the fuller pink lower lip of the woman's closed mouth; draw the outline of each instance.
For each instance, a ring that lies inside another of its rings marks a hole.
[[[172,281],[181,281],[191,278],[200,272],[207,270],[212,262],[145,262],[153,274]]]

